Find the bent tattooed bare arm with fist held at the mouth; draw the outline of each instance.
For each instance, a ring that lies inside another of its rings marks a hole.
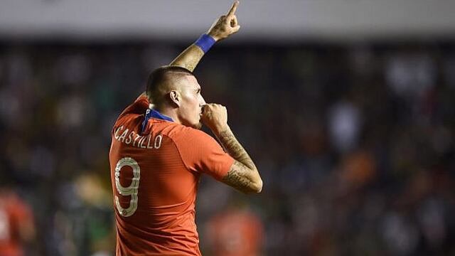
[[[208,104],[203,109],[203,122],[218,137],[221,145],[235,159],[228,174],[223,177],[223,183],[236,188],[243,193],[259,193],[262,191],[262,179],[259,172],[243,148],[237,141],[228,125],[228,112],[218,104]]]

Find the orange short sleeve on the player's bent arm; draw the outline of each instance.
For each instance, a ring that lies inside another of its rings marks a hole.
[[[213,137],[200,130],[187,127],[175,142],[183,163],[190,171],[221,180],[234,163],[232,156]]]

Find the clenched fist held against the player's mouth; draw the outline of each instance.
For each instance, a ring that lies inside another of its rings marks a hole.
[[[226,107],[220,104],[209,103],[203,106],[202,110],[202,122],[210,129],[214,134],[228,129],[228,110]]]

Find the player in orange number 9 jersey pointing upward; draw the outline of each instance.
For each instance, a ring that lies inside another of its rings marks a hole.
[[[228,126],[226,108],[206,104],[191,73],[215,41],[239,30],[237,6],[171,65],[154,70],[146,92],[114,124],[109,162],[117,255],[200,255],[195,204],[202,174],[245,193],[262,189],[255,164]],[[225,151],[200,131],[203,123]]]

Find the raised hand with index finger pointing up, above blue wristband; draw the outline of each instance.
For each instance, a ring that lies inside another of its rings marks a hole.
[[[239,6],[239,1],[235,1],[228,14],[220,16],[208,29],[208,35],[212,36],[215,41],[228,38],[233,33],[239,31],[240,25],[237,22],[237,16],[235,16],[237,6]]]

